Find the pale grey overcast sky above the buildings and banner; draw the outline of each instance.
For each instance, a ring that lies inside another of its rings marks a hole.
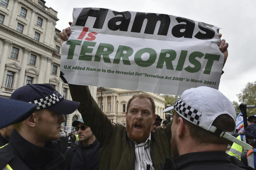
[[[58,12],[56,28],[66,28],[72,22],[73,8],[102,7],[115,11],[137,11],[181,16],[212,24],[220,30],[229,43],[229,56],[221,76],[219,90],[230,101],[238,101],[247,82],[256,81],[256,22],[255,0],[45,0],[47,7]],[[71,3],[70,3],[71,2]],[[247,103],[250,104],[250,103]]]

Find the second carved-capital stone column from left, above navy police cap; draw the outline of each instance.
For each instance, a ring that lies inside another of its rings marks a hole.
[[[28,59],[30,51],[31,50],[28,49],[28,48],[23,48],[23,56],[22,56],[22,61],[21,61],[21,70],[19,71],[18,88],[21,87],[21,86],[24,86],[26,64],[27,64],[27,59]]]

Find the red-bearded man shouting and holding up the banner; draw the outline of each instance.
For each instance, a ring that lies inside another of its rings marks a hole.
[[[71,22],[69,22],[71,25]],[[69,38],[70,28],[60,32],[61,45]],[[221,37],[221,34],[219,34]],[[227,59],[228,44],[222,40],[219,49]],[[223,66],[224,66],[223,64]],[[165,157],[171,156],[171,123],[151,131],[155,122],[155,103],[150,96],[139,94],[127,103],[126,126],[113,125],[90,94],[88,86],[69,84],[73,101],[86,126],[101,145],[99,169],[163,169]]]

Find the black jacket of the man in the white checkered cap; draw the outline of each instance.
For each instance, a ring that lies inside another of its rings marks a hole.
[[[249,166],[237,166],[231,163],[230,157],[225,152],[192,152],[165,159],[164,170],[244,170],[252,169]]]

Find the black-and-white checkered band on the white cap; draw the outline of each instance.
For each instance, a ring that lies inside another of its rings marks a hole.
[[[200,113],[198,110],[193,109],[191,106],[184,103],[180,98],[175,101],[173,107],[188,121],[199,125],[202,113]]]

